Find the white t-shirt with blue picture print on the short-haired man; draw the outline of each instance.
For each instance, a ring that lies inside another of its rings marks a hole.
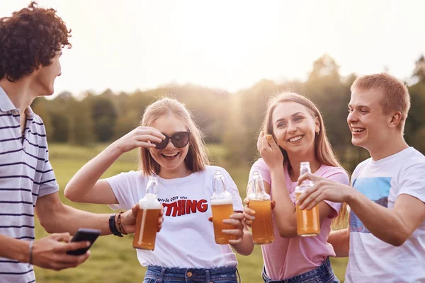
[[[402,194],[425,202],[425,156],[409,147],[378,161],[369,158],[356,167],[351,183],[389,209]],[[395,247],[373,236],[353,211],[350,217],[345,282],[425,282],[425,221],[402,246]]]

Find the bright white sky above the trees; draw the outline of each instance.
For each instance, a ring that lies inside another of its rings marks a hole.
[[[0,17],[24,6],[0,0]],[[38,0],[72,29],[55,93],[193,83],[228,91],[305,80],[327,53],[341,74],[387,67],[399,79],[425,53],[425,1]]]

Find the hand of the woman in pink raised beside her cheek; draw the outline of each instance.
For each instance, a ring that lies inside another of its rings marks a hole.
[[[268,168],[283,166],[282,151],[280,151],[278,144],[276,144],[271,134],[264,134],[263,131],[260,132],[257,149]]]

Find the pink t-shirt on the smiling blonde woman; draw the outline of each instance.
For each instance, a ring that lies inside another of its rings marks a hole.
[[[261,177],[268,184],[271,184],[271,175],[262,158],[257,160],[251,167],[249,179],[251,180],[252,173],[259,171]],[[295,187],[296,182],[290,180],[288,174],[288,167],[285,166],[285,180],[286,187],[290,194],[290,199],[295,205]],[[322,165],[314,172],[314,175],[334,180],[344,185],[349,185],[349,178],[343,168]],[[282,238],[279,235],[278,227],[274,222],[273,216],[273,229],[275,233],[275,240],[273,243],[261,245],[263,252],[264,266],[268,277],[273,280],[282,280],[302,273],[314,270],[314,268],[322,265],[328,256],[334,256],[334,248],[327,243],[329,232],[331,231],[332,218],[338,215],[341,207],[340,203],[327,202],[334,211],[324,219],[320,227],[320,234],[316,237],[295,237],[295,238]]]

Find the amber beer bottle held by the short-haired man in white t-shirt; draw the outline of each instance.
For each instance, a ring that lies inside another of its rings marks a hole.
[[[300,166],[300,175],[305,173],[311,173],[310,162],[301,162]],[[308,187],[311,187],[313,182],[311,180],[305,180],[300,184],[300,186],[295,187],[295,199],[298,200],[298,197],[306,190]],[[308,237],[308,236],[317,236],[320,233],[320,221],[319,221],[319,206],[316,205],[310,210],[300,209],[300,206],[297,204],[297,234],[298,236]]]

